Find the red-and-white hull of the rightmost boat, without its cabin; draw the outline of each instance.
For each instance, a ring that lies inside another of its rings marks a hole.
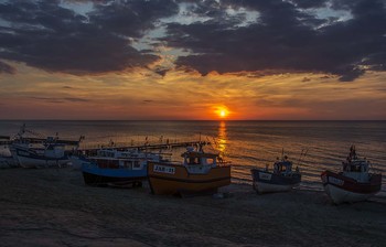
[[[366,201],[380,191],[382,175],[372,175],[368,183],[361,183],[341,173],[325,171],[321,174],[323,187],[335,204]]]

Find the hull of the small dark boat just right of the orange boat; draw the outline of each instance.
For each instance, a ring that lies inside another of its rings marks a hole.
[[[288,192],[299,185],[301,181],[299,173],[293,173],[291,176],[283,176],[258,169],[251,169],[250,172],[254,180],[254,189],[260,194]]]

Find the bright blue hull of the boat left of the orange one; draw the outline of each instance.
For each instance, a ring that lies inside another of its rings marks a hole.
[[[147,179],[147,169],[99,168],[94,162],[83,162],[83,179],[87,185],[107,186],[109,184],[137,183]]]

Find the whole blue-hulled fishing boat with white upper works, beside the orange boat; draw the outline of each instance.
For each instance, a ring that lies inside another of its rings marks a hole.
[[[149,161],[163,161],[162,155],[138,150],[103,149],[95,157],[75,155],[73,163],[82,167],[84,181],[94,186],[140,186],[147,179]]]

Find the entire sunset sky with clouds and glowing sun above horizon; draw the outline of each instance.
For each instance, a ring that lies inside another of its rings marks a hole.
[[[0,119],[386,120],[386,1],[0,0]]]

